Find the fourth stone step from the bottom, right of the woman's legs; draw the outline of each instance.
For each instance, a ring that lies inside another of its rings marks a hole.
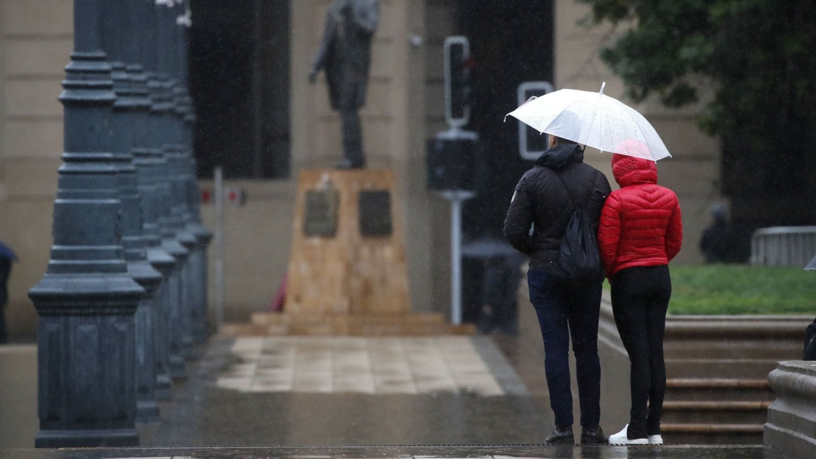
[[[768,377],[777,363],[776,359],[666,359],[666,376],[761,379]]]

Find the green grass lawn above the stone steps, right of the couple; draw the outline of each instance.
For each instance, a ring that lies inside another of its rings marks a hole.
[[[669,314],[816,315],[813,271],[749,265],[672,265],[670,270]]]

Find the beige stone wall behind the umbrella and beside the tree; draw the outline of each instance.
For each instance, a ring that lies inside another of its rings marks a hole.
[[[680,263],[699,263],[703,256],[698,243],[703,230],[711,222],[708,208],[712,203],[725,201],[719,192],[720,145],[712,137],[703,134],[696,124],[700,106],[685,109],[666,109],[657,100],[647,100],[640,105],[632,104],[623,96],[623,82],[612,74],[601,61],[600,51],[614,42],[618,33],[609,25],[588,27],[578,21],[588,16],[587,5],[574,0],[557,0],[555,39],[556,89],[570,87],[586,91],[598,91],[606,82],[604,93],[633,106],[644,114],[658,131],[672,158],[658,163],[660,185],[673,189],[683,211],[684,247],[677,256]],[[623,29],[623,28],[619,28]],[[703,85],[703,88],[706,87]],[[703,100],[711,97],[703,93]],[[587,163],[597,167],[610,178],[613,189],[617,186],[612,178],[610,154],[588,149]]]

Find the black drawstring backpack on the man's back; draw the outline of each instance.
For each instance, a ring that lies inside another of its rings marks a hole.
[[[570,222],[566,226],[558,259],[553,263],[553,274],[563,283],[573,287],[582,287],[601,283],[605,277],[601,265],[601,253],[598,252],[598,243],[592,224],[584,207],[578,207],[561,175],[556,172],[561,184],[566,189],[574,210]],[[586,205],[586,204],[585,204]],[[585,206],[584,205],[584,206]]]

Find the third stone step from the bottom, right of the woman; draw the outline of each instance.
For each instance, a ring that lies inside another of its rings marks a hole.
[[[666,381],[666,401],[772,401],[767,379],[680,378]]]

